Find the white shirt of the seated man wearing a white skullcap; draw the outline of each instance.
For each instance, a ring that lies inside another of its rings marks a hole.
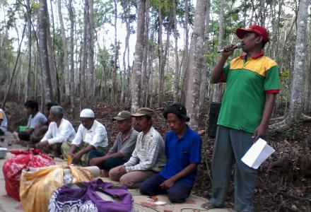
[[[90,129],[86,129],[86,127],[80,124],[78,131],[76,132],[76,137],[71,144],[80,146],[82,141],[89,143],[95,148],[98,148],[98,146],[108,146],[107,131],[105,126],[96,120],[94,120],[94,123]]]

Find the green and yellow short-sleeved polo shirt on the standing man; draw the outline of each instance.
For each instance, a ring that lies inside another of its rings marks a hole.
[[[225,94],[217,124],[253,133],[264,112],[266,93],[278,93],[278,65],[259,54],[246,61],[237,57],[223,68]]]

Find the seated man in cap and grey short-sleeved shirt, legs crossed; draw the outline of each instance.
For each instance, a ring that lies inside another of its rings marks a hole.
[[[96,150],[90,151],[89,160],[90,165],[97,165],[100,167],[100,172],[102,177],[108,177],[108,171],[113,167],[123,165],[131,157],[133,153],[138,131],[131,127],[131,113],[123,110],[119,112],[113,120],[117,120],[117,126],[119,128],[119,134],[112,148],[105,155],[104,153],[99,153]]]

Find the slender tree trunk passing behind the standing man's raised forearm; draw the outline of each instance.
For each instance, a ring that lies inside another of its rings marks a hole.
[[[225,13],[225,1],[221,0],[221,14],[219,15],[219,34],[218,34],[218,45],[217,50],[221,50],[223,48],[223,33],[225,31],[225,27],[223,25],[223,16]],[[213,102],[220,102],[221,95],[223,90],[223,83],[217,83],[213,85]]]

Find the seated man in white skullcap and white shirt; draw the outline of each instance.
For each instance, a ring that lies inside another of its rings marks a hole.
[[[107,131],[104,125],[95,120],[93,110],[83,109],[80,120],[74,141],[65,141],[61,145],[61,152],[65,159],[70,155],[74,164],[88,165],[88,154],[91,150],[107,153]]]

